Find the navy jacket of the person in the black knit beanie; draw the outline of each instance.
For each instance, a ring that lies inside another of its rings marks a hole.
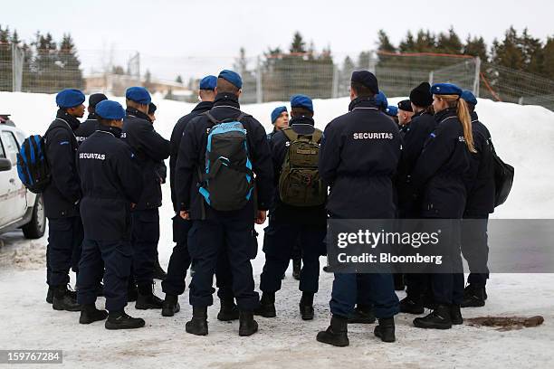
[[[425,110],[412,117],[406,126],[402,156],[398,163],[396,173],[396,194],[398,203],[398,216],[400,218],[419,218],[421,204],[414,198],[414,189],[410,185],[410,176],[416,166],[417,158],[421,155],[425,141],[435,130],[437,121],[435,117]]]

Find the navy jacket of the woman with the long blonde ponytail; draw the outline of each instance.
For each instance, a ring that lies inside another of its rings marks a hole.
[[[424,218],[460,219],[465,208],[463,178],[469,169],[470,152],[455,109],[445,109],[435,114],[435,119],[437,127],[425,141],[411,184],[421,198]]]

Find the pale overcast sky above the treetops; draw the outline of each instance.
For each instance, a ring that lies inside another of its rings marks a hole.
[[[528,27],[541,39],[554,35],[554,2],[548,0],[5,0],[0,12],[2,25],[24,40],[36,30],[58,40],[72,33],[87,72],[100,68],[102,55],[106,59],[113,49],[117,62],[140,52],[143,69],[151,64],[153,74],[166,78],[206,64],[229,67],[241,46],[248,55],[268,46],[287,49],[296,30],[317,49],[330,45],[339,56],[374,48],[381,28],[393,43],[407,30],[438,33],[451,25],[461,37],[482,35],[487,43],[510,25]]]

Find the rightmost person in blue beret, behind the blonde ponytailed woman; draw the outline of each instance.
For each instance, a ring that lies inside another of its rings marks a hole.
[[[472,155],[466,178],[467,201],[462,222],[462,253],[468,262],[470,274],[463,291],[462,307],[482,307],[487,294],[485,286],[489,273],[487,261],[487,224],[489,214],[494,213],[494,166],[492,162],[492,138],[489,129],[482,124],[475,112],[477,99],[471,91],[464,90],[462,99],[467,102],[472,115],[473,143],[477,151]]]

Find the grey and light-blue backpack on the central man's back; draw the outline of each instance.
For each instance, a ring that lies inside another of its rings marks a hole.
[[[236,119],[218,121],[209,112],[213,123],[207,133],[205,172],[199,167],[199,192],[205,202],[218,211],[239,210],[253,197],[252,162],[248,156],[246,129]]]

